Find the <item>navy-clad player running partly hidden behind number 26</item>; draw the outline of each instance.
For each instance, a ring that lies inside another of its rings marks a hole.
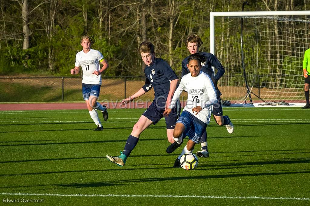
[[[220,97],[220,95],[222,94],[217,87],[217,81],[224,75],[225,69],[222,66],[222,64],[219,62],[219,60],[215,57],[215,55],[206,53],[206,52],[199,52],[199,47],[202,45],[202,43],[203,42],[201,41],[201,38],[195,34],[189,35],[186,40],[186,46],[190,54],[199,53],[206,58],[206,61],[202,62],[201,71],[209,75],[210,78],[212,79],[212,82],[215,87],[216,95],[218,98],[218,101],[213,105],[213,111],[212,111],[213,118],[218,125],[221,125],[221,126],[225,125],[228,133],[231,134],[234,131],[234,126],[228,116],[223,116],[223,109],[222,109],[221,97]],[[182,61],[182,77],[190,73],[187,67],[188,58],[189,56],[184,58],[184,60]],[[214,75],[212,66],[217,69],[217,73],[215,75]],[[170,147],[170,150],[167,148],[167,153],[173,152],[176,148],[178,148],[181,145],[181,144],[177,144],[177,142],[173,144],[174,145],[173,147]],[[206,132],[201,136],[201,151],[198,151],[197,155],[199,157],[209,157]]]

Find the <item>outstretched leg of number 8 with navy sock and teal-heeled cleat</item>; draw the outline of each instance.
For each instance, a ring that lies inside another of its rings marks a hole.
[[[132,128],[131,134],[128,136],[127,141],[124,146],[123,152],[121,152],[120,156],[113,157],[107,155],[106,157],[111,162],[119,165],[124,166],[126,163],[127,158],[129,157],[131,151],[135,148],[139,141],[140,134],[148,128],[153,122],[146,118],[145,116],[141,115],[138,122],[135,123],[134,127]]]

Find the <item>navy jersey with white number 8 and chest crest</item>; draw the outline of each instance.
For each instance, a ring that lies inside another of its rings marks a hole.
[[[170,81],[178,79],[169,64],[161,58],[155,58],[151,66],[144,68],[144,73],[146,79],[142,88],[145,92],[148,92],[154,87],[154,99],[158,97],[167,98],[170,90]]]

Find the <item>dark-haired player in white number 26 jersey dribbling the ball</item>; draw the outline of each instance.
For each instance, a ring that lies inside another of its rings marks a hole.
[[[190,73],[182,77],[169,108],[163,113],[168,115],[174,108],[175,102],[179,99],[182,91],[187,89],[187,104],[175,124],[173,137],[178,144],[183,142],[183,135],[187,135],[189,140],[181,155],[175,160],[173,167],[180,167],[180,158],[183,154],[193,152],[195,144],[199,143],[201,135],[206,131],[206,127],[210,122],[212,105],[217,102],[215,87],[211,78],[200,71],[201,62],[204,62],[204,57],[199,53],[188,57],[187,67]],[[171,146],[173,144],[169,147]]]

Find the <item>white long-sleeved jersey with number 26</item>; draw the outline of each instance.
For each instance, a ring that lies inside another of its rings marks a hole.
[[[184,75],[181,79],[179,87],[175,90],[170,109],[173,109],[175,102],[179,99],[182,91],[187,89],[187,103],[184,111],[188,111],[193,116],[197,117],[202,122],[209,124],[212,113],[212,105],[217,102],[214,84],[211,78],[204,72],[196,77],[192,77],[191,73]],[[192,109],[201,106],[202,110],[196,115]]]

